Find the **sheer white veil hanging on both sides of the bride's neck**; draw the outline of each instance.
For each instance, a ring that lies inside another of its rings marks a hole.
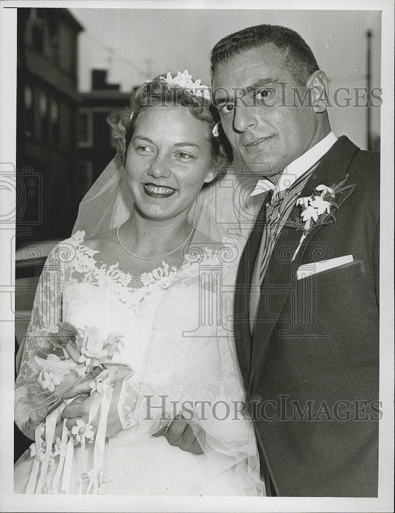
[[[202,188],[189,212],[190,223],[213,242],[228,235],[247,238],[262,201],[260,195],[250,196],[256,182],[239,173],[237,165],[230,166],[224,176]],[[117,153],[81,201],[72,233],[84,230],[88,238],[111,230],[129,219],[133,204]]]

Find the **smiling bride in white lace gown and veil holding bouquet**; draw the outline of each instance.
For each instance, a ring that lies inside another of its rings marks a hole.
[[[34,442],[14,491],[262,495],[229,325],[239,243],[188,215],[227,162],[208,88],[168,73],[110,122],[120,155],[37,287],[15,385]],[[153,436],[174,419],[192,452]]]

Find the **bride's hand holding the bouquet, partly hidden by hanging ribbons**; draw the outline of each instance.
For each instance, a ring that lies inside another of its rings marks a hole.
[[[128,371],[128,374],[130,371]],[[125,375],[126,376],[126,375]],[[115,375],[115,387],[114,391],[112,392],[112,398],[111,398],[111,404],[108,411],[108,417],[107,417],[107,430],[106,430],[106,438],[111,438],[117,435],[120,431],[122,431],[122,424],[118,416],[118,408],[117,404],[119,401],[119,397],[121,394],[122,389],[122,380],[125,377],[123,376],[123,372],[118,372]],[[89,388],[89,385],[86,384],[87,392],[91,390]],[[80,391],[80,393],[83,393]],[[89,417],[89,410],[92,405],[93,399],[97,395],[98,392],[93,392],[91,396],[88,396],[87,398],[81,398],[77,397],[65,406],[62,416],[64,419],[67,419],[66,426],[71,429],[73,426],[76,425],[77,419],[83,419],[85,424],[88,422]],[[93,420],[91,421],[90,425],[93,426],[93,431],[96,433],[97,426],[99,424],[100,419],[100,408]]]

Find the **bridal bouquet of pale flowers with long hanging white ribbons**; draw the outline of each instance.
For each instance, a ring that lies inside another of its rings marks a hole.
[[[25,493],[57,493],[61,476],[60,490],[67,493],[74,446],[80,446],[82,466],[79,492],[82,492],[83,481],[85,481],[87,486],[84,488],[87,494],[100,494],[106,483],[103,475],[104,442],[108,410],[115,386],[114,377],[118,370],[118,367],[111,363],[111,359],[119,351],[119,347],[123,346],[123,336],[118,333],[109,333],[103,340],[96,327],[77,329],[67,322],[50,326],[43,330],[42,334],[54,352],[46,354],[44,351],[37,351],[34,361],[40,369],[37,383],[43,390],[49,392],[51,401],[47,417],[36,427],[35,442],[30,446],[30,456],[34,458],[34,463]],[[107,368],[105,363],[110,366]],[[70,430],[64,420],[62,435],[55,438],[58,415],[63,411],[66,403],[71,401],[71,399],[63,400],[62,395],[76,384],[76,379],[77,383],[90,381],[90,394],[97,392],[90,407],[88,422],[85,424],[84,420],[78,419],[76,426]],[[91,421],[96,417],[99,409],[100,420],[95,437]],[[88,471],[85,468],[87,464],[85,444],[93,442],[95,442],[93,468]]]

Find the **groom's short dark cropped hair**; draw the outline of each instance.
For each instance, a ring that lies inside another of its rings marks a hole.
[[[297,32],[279,25],[256,25],[227,35],[214,46],[211,76],[217,64],[266,44],[273,44],[281,50],[283,65],[291,71],[298,85],[305,85],[308,77],[319,69],[311,48]]]

